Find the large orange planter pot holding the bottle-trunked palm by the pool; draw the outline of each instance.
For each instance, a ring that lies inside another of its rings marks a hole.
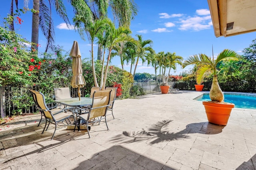
[[[235,107],[232,103],[203,102],[209,123],[227,125],[231,110]]]

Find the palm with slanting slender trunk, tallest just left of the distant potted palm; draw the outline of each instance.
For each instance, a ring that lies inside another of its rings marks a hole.
[[[153,41],[150,40],[150,39],[146,39],[146,40],[142,40],[142,35],[136,35],[136,37],[138,37],[138,44],[139,44],[139,51],[138,53],[136,54],[137,55],[137,60],[136,60],[136,64],[135,64],[135,68],[134,68],[134,72],[133,72],[133,78],[135,76],[135,73],[136,73],[136,68],[137,68],[137,65],[139,63],[139,59],[142,59],[142,64],[144,63],[144,57],[146,55],[147,52],[150,52],[150,53],[154,53],[154,50],[152,49],[151,45],[153,44]],[[149,46],[148,46],[149,45]]]

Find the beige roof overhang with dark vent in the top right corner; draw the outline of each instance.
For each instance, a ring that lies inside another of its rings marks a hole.
[[[256,31],[256,0],[208,0],[216,37]]]

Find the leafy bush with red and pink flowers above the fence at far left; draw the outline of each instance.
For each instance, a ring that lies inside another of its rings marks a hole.
[[[0,26],[0,86],[34,84],[36,76],[32,74],[32,66],[40,64],[32,64],[31,59],[39,61],[37,51],[31,51],[28,46],[31,43],[9,29],[8,25],[13,19],[17,19],[17,24],[22,23],[19,17],[8,16],[4,26]]]

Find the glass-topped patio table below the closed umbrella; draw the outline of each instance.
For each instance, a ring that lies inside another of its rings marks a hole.
[[[92,105],[92,98],[81,97],[81,100],[79,100],[79,98],[68,98],[68,99],[55,100],[55,102],[58,104],[73,107],[74,109],[76,109],[76,108],[81,108],[83,106]],[[81,109],[79,109],[79,110],[80,110],[79,114],[82,114],[82,110]],[[75,117],[74,117],[74,119],[75,119]],[[80,131],[80,120],[78,121],[77,126],[78,126],[78,131]],[[75,124],[74,131],[75,131],[75,129],[76,129],[76,124]]]

